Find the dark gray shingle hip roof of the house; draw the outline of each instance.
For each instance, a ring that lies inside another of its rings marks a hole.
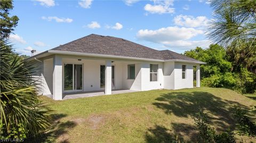
[[[155,49],[142,46],[122,38],[95,34],[79,38],[77,40],[71,41],[70,43],[55,47],[51,50],[150,58],[156,60],[188,60],[199,62],[194,58],[190,58],[169,50],[157,51]]]

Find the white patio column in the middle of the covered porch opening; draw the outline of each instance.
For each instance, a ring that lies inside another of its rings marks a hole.
[[[111,94],[111,80],[112,80],[112,67],[111,67],[111,60],[106,60],[106,69],[105,69],[105,95]]]

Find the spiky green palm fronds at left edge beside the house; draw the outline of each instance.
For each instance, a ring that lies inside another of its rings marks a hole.
[[[37,69],[0,41],[1,138],[35,136],[49,127],[51,109],[38,96]]]

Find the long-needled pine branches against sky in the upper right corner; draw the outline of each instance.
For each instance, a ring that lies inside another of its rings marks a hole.
[[[255,0],[212,0],[214,20],[211,22],[209,38],[222,46],[243,39],[256,40]]]

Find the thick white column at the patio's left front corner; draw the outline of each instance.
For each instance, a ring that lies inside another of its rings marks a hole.
[[[53,57],[53,97],[54,100],[62,100],[62,57]]]

